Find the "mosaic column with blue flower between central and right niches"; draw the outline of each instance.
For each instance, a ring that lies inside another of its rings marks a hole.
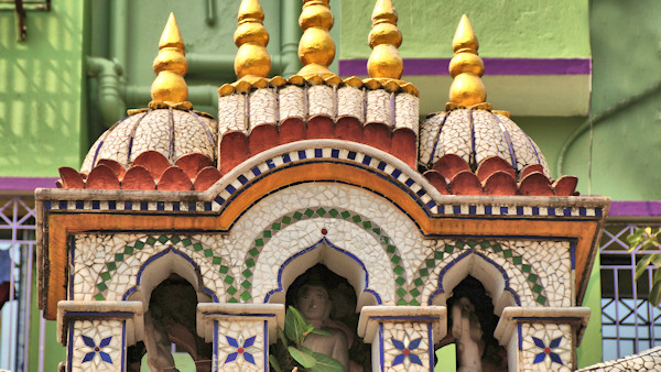
[[[372,344],[372,371],[432,371],[446,321],[445,306],[365,306],[358,336]]]

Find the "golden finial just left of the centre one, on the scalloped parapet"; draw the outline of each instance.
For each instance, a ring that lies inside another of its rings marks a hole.
[[[239,47],[235,58],[235,73],[239,79],[266,78],[271,72],[271,57],[267,52],[269,33],[263,20],[264,12],[259,0],[241,1],[234,36]]]

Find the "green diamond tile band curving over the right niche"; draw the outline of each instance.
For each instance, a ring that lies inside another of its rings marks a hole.
[[[422,302],[422,298],[420,296],[424,288],[424,283],[429,282],[430,274],[434,271],[434,267],[438,265],[448,264],[449,262],[443,262],[443,258],[452,255],[457,250],[473,252],[483,251],[486,253],[492,252],[495,254],[501,255],[527,275],[525,278],[528,285],[530,286],[530,289],[532,291],[534,300],[538,302],[540,305],[549,304],[546,293],[541,284],[539,275],[533,273],[532,266],[529,263],[527,263],[522,256],[517,255],[511,249],[503,248],[497,242],[490,242],[486,240],[457,240],[454,244],[445,244],[445,247],[443,247],[442,249],[434,251],[423,261],[422,265],[418,270],[418,274],[413,278],[413,283],[411,285],[412,289],[409,291],[411,297],[413,298],[409,302],[410,305],[420,305],[420,302]]]

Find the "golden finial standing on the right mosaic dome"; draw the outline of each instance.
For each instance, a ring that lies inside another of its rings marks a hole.
[[[452,40],[452,48],[455,55],[449,61],[449,75],[454,80],[449,87],[448,106],[469,107],[485,103],[487,90],[480,79],[485,73],[485,64],[477,55],[479,43],[466,14],[459,21],[455,36]]]

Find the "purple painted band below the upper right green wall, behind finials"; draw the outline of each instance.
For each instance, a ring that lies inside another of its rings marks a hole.
[[[589,75],[590,58],[483,58],[487,75]],[[448,75],[449,58],[407,58],[407,75]],[[367,59],[340,59],[340,76],[367,76]]]

